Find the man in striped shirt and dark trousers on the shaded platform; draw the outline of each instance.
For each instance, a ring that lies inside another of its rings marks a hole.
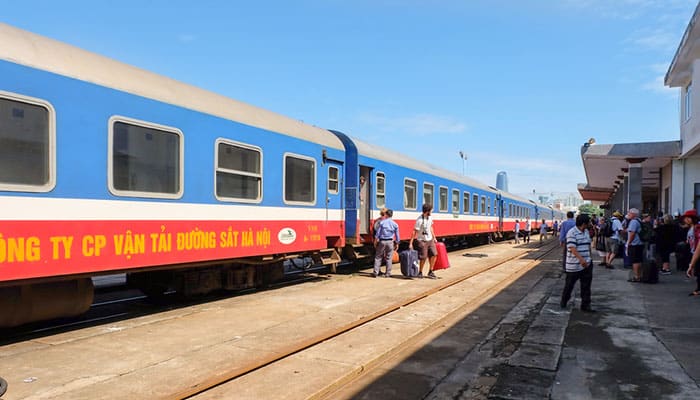
[[[576,226],[566,234],[566,283],[561,293],[561,308],[566,308],[576,281],[581,281],[581,311],[595,312],[591,308],[591,282],[593,282],[593,260],[591,259],[591,235],[588,233],[591,218],[586,214],[576,217]]]

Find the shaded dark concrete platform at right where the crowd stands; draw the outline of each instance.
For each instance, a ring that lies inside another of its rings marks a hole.
[[[508,288],[426,341],[420,355],[387,363],[338,398],[700,398],[700,298],[687,295],[694,280],[674,272],[655,285],[629,283],[627,270],[595,266],[597,312],[588,314],[576,308],[578,293],[573,305],[560,308],[560,268],[558,260],[550,260],[549,273],[532,271],[521,279],[523,287]],[[481,337],[462,336],[474,319],[490,319],[491,330]],[[444,346],[458,338],[459,345]],[[454,358],[455,352],[459,359],[439,376],[422,372],[437,365],[439,354]],[[433,383],[425,384],[427,379]]]

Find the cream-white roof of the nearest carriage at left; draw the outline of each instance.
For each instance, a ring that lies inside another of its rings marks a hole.
[[[3,23],[0,43],[0,59],[343,149],[324,129]]]

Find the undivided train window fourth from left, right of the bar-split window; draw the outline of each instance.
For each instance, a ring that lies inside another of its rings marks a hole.
[[[316,203],[316,160],[284,155],[284,201],[292,204]]]

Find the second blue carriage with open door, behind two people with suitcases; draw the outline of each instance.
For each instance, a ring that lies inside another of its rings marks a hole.
[[[345,144],[348,190],[358,187],[358,193],[346,196],[348,241],[370,244],[373,222],[383,207],[394,211],[401,238],[407,240],[425,203],[433,204],[435,232],[443,240],[486,242],[490,233],[499,231],[499,194],[494,188],[333,132]]]

